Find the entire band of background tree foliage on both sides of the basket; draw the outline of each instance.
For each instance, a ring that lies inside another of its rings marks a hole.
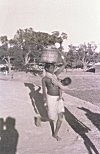
[[[4,60],[9,67],[24,67],[29,63],[39,63],[42,51],[47,46],[60,44],[60,50],[66,57],[69,67],[81,67],[86,69],[89,63],[100,62],[100,53],[96,53],[97,45],[94,42],[83,43],[77,46],[70,44],[69,50],[63,53],[62,43],[67,39],[67,34],[53,31],[52,34],[36,32],[32,28],[17,30],[14,37],[8,40],[7,36],[1,36],[0,60]],[[61,63],[59,56],[59,63]]]

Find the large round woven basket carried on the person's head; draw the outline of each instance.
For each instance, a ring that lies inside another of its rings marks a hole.
[[[42,63],[57,63],[58,51],[57,49],[44,50],[41,55]]]

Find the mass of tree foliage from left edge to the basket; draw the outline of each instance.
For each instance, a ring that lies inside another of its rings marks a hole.
[[[62,34],[64,35],[65,33]],[[10,40],[7,36],[1,36],[0,41],[0,58],[9,65],[18,66],[39,62],[44,47],[54,45],[56,42],[62,43],[63,37],[26,28],[17,30]]]

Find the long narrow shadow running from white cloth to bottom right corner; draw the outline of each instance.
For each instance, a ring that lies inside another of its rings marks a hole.
[[[71,126],[71,128],[80,135],[80,137],[84,140],[84,145],[87,148],[89,154],[99,154],[98,150],[96,149],[95,145],[92,141],[88,138],[87,134],[90,129],[84,125],[81,121],[79,121],[66,107],[65,107],[65,120]]]

